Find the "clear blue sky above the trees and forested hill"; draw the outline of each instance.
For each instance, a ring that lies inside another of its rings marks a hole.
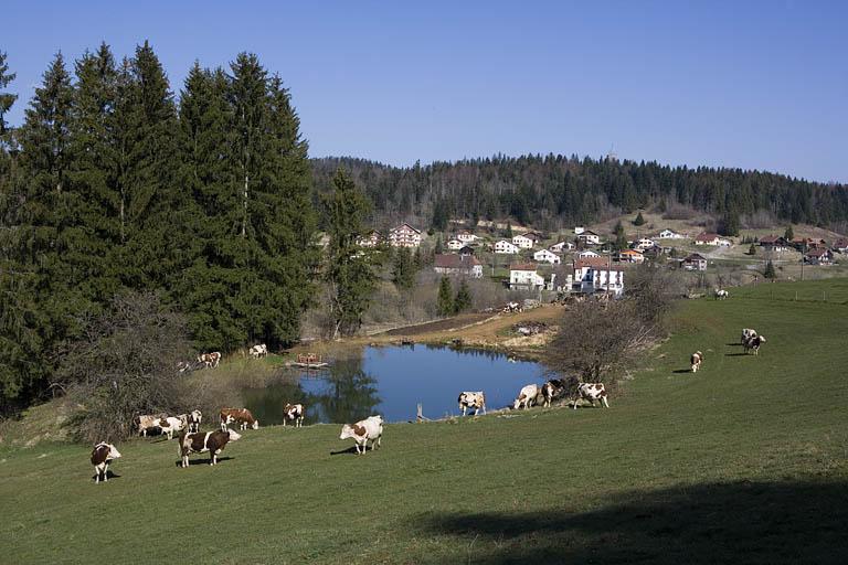
[[[78,4],[78,6],[77,6]],[[53,54],[150,40],[259,55],[314,157],[554,152],[848,182],[848,2],[20,1],[0,7],[20,122]]]

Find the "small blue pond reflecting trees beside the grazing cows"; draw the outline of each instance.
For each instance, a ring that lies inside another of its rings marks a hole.
[[[426,345],[365,348],[325,371],[290,371],[264,388],[242,391],[244,405],[263,424],[282,424],[286,403],[301,403],[306,424],[349,423],[372,414],[386,422],[458,415],[463,391],[484,391],[488,409],[511,405],[526,384],[544,382],[538,363],[492,352]]]

